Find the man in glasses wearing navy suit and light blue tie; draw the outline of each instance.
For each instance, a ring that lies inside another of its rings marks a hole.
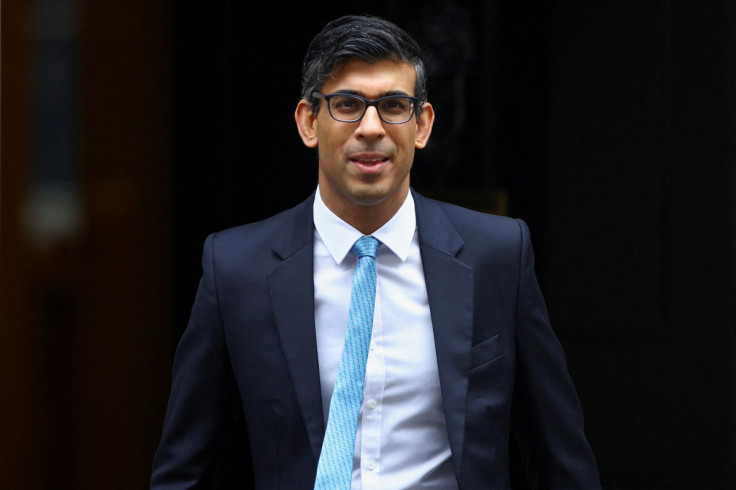
[[[223,478],[238,421],[255,488],[506,489],[516,443],[534,488],[599,488],[526,226],[410,189],[425,78],[378,18],[310,44],[318,189],[208,237],[152,488]]]

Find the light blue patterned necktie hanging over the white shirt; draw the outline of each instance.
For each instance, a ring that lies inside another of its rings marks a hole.
[[[376,251],[380,242],[362,236],[351,252],[358,257],[350,294],[350,316],[340,367],[330,401],[327,430],[317,464],[315,490],[349,490],[353,474],[355,434],[363,402],[365,363],[376,304]]]

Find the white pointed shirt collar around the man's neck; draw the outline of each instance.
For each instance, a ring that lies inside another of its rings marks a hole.
[[[408,192],[404,203],[390,220],[373,232],[373,236],[391,250],[401,261],[409,256],[409,248],[416,231],[417,217],[414,198]],[[336,263],[341,263],[361,232],[340,219],[322,201],[319,186],[314,198],[314,227]],[[379,254],[381,250],[379,249]]]

